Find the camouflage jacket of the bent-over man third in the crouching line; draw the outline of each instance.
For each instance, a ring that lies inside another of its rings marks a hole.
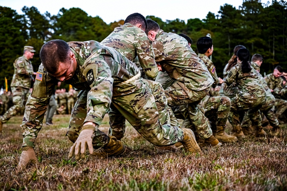
[[[213,84],[214,80],[203,61],[177,34],[159,30],[153,50],[155,61],[163,66],[169,77],[183,82],[187,88],[199,91]]]

